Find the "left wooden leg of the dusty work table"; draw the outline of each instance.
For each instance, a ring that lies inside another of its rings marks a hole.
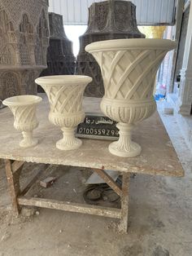
[[[20,214],[20,206],[18,205],[17,197],[20,196],[20,172],[23,166],[23,161],[5,160],[8,188],[11,194],[12,208],[16,216]]]

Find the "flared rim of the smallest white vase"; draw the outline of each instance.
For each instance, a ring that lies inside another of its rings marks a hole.
[[[4,99],[2,104],[5,106],[26,106],[41,102],[42,98],[37,95],[16,95]]]

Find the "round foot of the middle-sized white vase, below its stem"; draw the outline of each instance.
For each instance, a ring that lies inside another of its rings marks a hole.
[[[68,141],[67,139],[59,139],[59,141],[56,143],[56,148],[60,150],[74,150],[77,148],[80,148],[82,145],[81,139],[70,139]]]

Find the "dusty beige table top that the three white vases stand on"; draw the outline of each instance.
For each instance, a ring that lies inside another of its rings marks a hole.
[[[48,120],[50,105],[46,95],[43,98],[37,108],[39,126],[33,131],[33,136],[39,139],[39,143],[34,148],[20,148],[22,135],[13,127],[11,110],[0,110],[0,158],[98,169],[103,166],[105,170],[127,173],[184,175],[158,113],[139,123],[133,130],[133,140],[142,146],[142,153],[138,157],[113,156],[108,151],[111,141],[96,139],[82,139],[81,148],[65,152],[55,147],[56,141],[62,138],[62,132]],[[85,98],[85,112],[99,113],[100,100]]]

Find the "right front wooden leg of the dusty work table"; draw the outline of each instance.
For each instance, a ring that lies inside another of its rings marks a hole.
[[[119,231],[125,234],[128,232],[129,182],[130,182],[130,174],[123,173],[122,193],[121,193],[121,217],[120,217]]]

